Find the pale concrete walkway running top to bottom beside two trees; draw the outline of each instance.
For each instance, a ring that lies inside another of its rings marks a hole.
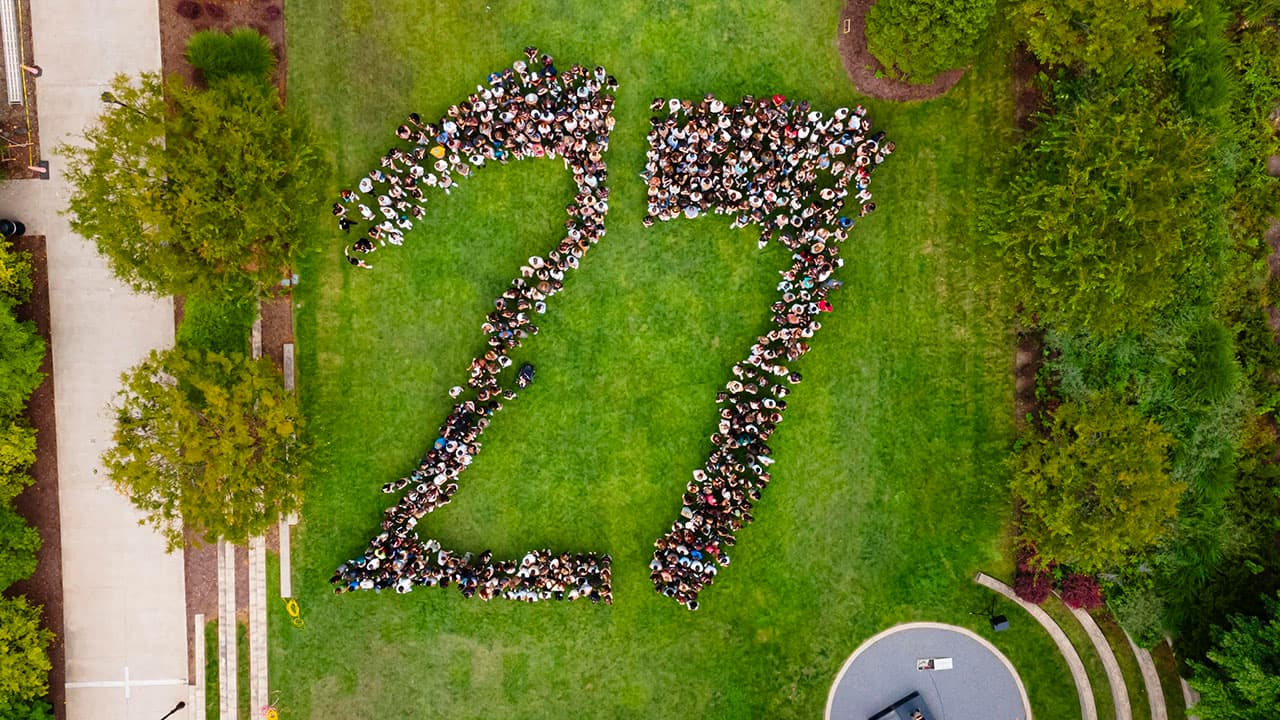
[[[67,717],[154,720],[187,700],[182,553],[166,555],[138,512],[106,480],[106,410],[120,374],[173,343],[170,300],[120,286],[93,247],[58,215],[68,187],[52,147],[101,110],[115,73],[160,68],[155,0],[32,3],[33,61],[44,68],[40,131],[49,181],[15,181],[0,213],[49,243],[58,470],[65,596]],[[188,710],[173,717],[189,717]]]

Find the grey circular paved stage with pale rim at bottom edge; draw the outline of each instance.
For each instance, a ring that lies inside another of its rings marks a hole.
[[[916,670],[929,660],[936,669]],[[882,715],[911,693],[919,697]],[[1009,660],[972,630],[940,623],[896,625],[863,643],[836,675],[826,717],[908,720],[915,708],[927,720],[1030,719]]]

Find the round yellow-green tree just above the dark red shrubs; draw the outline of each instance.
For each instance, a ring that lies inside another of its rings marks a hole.
[[[1047,562],[1098,571],[1151,547],[1178,511],[1170,438],[1114,393],[1064,402],[1014,457],[1023,536]]]

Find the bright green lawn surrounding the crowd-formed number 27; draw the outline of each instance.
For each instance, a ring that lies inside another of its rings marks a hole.
[[[982,630],[978,569],[1007,574],[1012,441],[1007,313],[977,259],[974,191],[1010,136],[1007,47],[941,100],[869,102],[899,150],[879,210],[845,249],[846,287],[799,365],[771,441],[773,483],[733,565],[690,614],[646,562],[709,450],[714,392],[767,327],[780,250],[700,219],[640,225],[654,96],[783,92],[852,104],[840,3],[291,1],[289,96],[353,183],[402,118],[440,114],[525,45],[602,63],[621,88],[608,236],[515,355],[538,379],[485,434],[452,505],[420,533],[463,550],[611,552],[612,607],[466,601],[454,589],[334,597],[483,346],[486,307],[558,240],[572,186],[557,161],[485,169],[399,250],[348,272],[317,224],[297,295],[300,391],[323,443],[294,541],[306,626],[271,615],[284,717],[817,717],[861,639],[905,620]],[[349,241],[349,240],[348,240]],[[1009,606],[992,637],[1038,719],[1079,716],[1047,637]]]

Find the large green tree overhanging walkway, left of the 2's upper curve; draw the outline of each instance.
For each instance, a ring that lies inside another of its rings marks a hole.
[[[159,295],[266,295],[305,245],[325,161],[302,119],[261,78],[196,90],[118,76],[113,102],[61,146],[72,227],[113,272]]]

